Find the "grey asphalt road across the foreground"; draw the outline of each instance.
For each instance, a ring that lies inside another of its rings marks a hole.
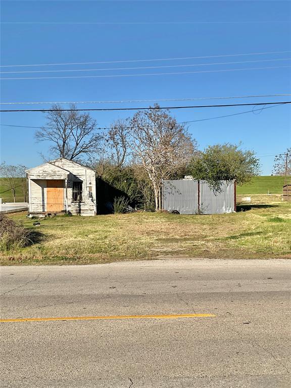
[[[1,386],[289,388],[291,261],[2,267]]]

